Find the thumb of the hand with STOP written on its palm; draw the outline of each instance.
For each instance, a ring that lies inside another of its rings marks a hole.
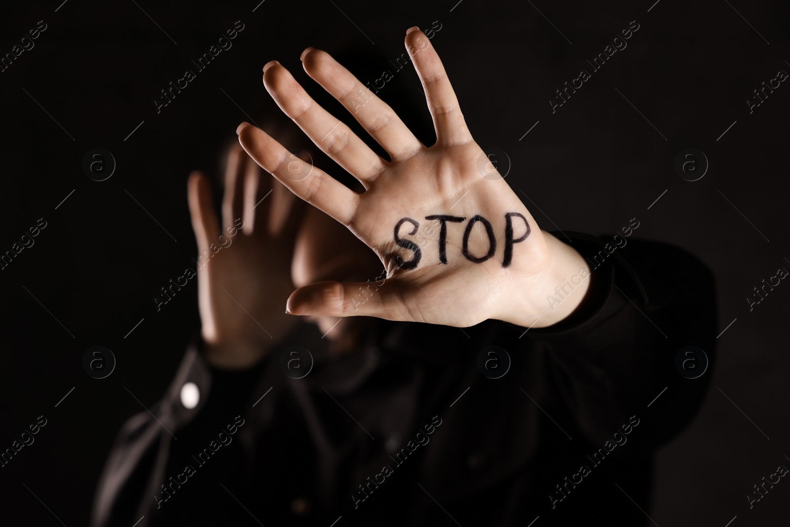
[[[410,320],[395,279],[367,282],[317,282],[292,292],[285,311],[290,314],[367,316]]]

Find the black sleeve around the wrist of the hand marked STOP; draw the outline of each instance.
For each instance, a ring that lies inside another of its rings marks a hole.
[[[592,443],[611,440],[635,416],[638,442],[652,450],[690,422],[712,375],[713,274],[666,243],[619,236],[618,247],[608,237],[566,234],[589,263],[590,284],[568,318],[529,332],[551,358],[547,381]],[[707,359],[687,355],[687,346]]]

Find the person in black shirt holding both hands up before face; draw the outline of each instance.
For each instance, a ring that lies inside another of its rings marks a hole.
[[[248,123],[221,226],[190,177],[201,336],[160,405],[126,423],[95,525],[647,520],[653,452],[707,384],[675,359],[713,355],[711,273],[626,241],[638,222],[611,240],[541,231],[431,42],[410,28],[405,44],[431,147],[328,54],[301,56],[389,160],[264,66],[284,114],[363,192]]]

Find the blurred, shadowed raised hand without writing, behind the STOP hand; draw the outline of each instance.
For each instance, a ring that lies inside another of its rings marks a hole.
[[[202,265],[205,358],[218,367],[250,367],[299,323],[285,314],[285,303],[294,290],[291,259],[303,204],[238,145],[228,155],[221,230],[206,176],[193,172],[187,194]]]

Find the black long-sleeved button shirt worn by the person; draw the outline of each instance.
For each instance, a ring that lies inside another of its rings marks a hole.
[[[653,454],[711,375],[676,359],[713,361],[713,277],[663,243],[567,234],[589,290],[549,328],[377,320],[330,357],[305,324],[247,371],[209,367],[194,339],[156,419],[123,427],[94,525],[644,525]]]

